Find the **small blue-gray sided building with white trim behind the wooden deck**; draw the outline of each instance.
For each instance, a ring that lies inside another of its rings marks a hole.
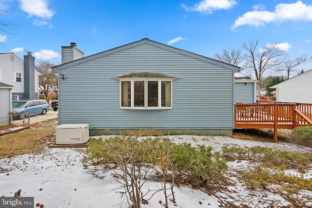
[[[235,73],[235,102],[255,103],[257,100],[257,83],[256,79],[245,76],[241,73]]]

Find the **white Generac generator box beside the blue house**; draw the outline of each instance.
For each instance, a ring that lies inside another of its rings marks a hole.
[[[89,124],[62,124],[56,127],[56,144],[84,144],[89,141]]]

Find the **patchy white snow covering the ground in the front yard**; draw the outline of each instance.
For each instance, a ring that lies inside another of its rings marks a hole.
[[[253,147],[266,146],[279,150],[311,153],[311,148],[299,147],[288,143],[264,143],[258,141],[234,139],[226,136],[170,136],[176,143],[188,142],[192,145],[212,146],[220,151],[222,146]],[[94,137],[95,138],[95,137]],[[98,169],[95,177],[84,169],[81,159],[84,149],[53,148],[40,153],[23,154],[0,159],[0,191],[5,197],[13,197],[14,192],[21,189],[21,197],[34,197],[35,205],[44,208],[128,208],[125,198],[121,198],[116,189],[119,184],[114,180],[112,170]],[[207,194],[186,186],[175,188],[176,204],[169,202],[169,208],[218,208],[228,201],[237,207],[265,208],[290,206],[278,194],[273,192],[250,190],[232,173],[235,170],[249,168],[247,161],[228,162],[229,171],[226,175],[232,184],[227,189],[215,194]],[[293,173],[295,173],[293,171]],[[312,179],[312,170],[306,173]],[[148,189],[159,189],[159,182],[147,181],[143,192]],[[308,191],[303,194],[312,196]],[[148,198],[148,197],[146,197]],[[222,202],[223,201],[223,202]],[[157,192],[142,208],[164,208],[164,196]],[[312,202],[308,203],[312,207]]]

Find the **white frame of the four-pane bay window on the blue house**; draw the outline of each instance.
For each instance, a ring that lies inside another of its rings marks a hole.
[[[126,106],[121,106],[122,102],[121,102],[121,98],[122,98],[122,94],[121,94],[121,82],[122,81],[131,81],[131,106],[130,107],[126,107]],[[144,107],[137,107],[134,106],[134,81],[144,81]],[[148,81],[158,81],[158,106],[148,106],[148,89],[147,89],[147,83]],[[170,106],[169,107],[165,107],[165,106],[161,106],[161,82],[162,81],[169,81],[170,82]],[[119,79],[119,108],[120,109],[138,109],[138,110],[159,110],[159,109],[172,109],[173,108],[173,79],[171,78],[120,78]]]

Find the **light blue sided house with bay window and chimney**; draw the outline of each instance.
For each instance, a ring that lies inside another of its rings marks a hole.
[[[71,43],[52,70],[59,125],[87,123],[90,135],[232,135],[239,67],[144,38],[88,57]]]

